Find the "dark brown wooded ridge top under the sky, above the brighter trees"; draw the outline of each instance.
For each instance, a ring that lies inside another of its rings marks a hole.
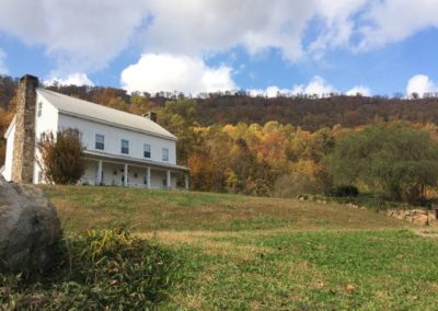
[[[18,79],[0,76],[0,108],[2,114],[13,106]],[[149,94],[137,92],[127,94],[125,90],[102,87],[47,85],[48,89],[88,100],[102,105],[142,114],[149,110],[163,108],[168,101],[194,100],[198,103],[197,122],[203,126],[265,124],[277,120],[281,124],[292,124],[308,130],[322,127],[356,127],[373,122],[406,120],[412,123],[438,123],[438,97],[436,94],[425,94],[404,99],[402,94],[388,96],[347,96],[327,94],[324,97],[315,95],[277,97],[250,96],[245,91],[199,94],[191,99],[182,93],[158,92]],[[3,125],[0,125],[3,126]]]

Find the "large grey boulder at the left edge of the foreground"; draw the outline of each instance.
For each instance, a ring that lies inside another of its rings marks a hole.
[[[32,185],[0,175],[0,264],[12,270],[44,270],[61,230],[55,207]]]

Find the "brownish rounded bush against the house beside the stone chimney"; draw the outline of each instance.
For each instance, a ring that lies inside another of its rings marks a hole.
[[[76,184],[85,171],[84,147],[77,129],[59,130],[56,135],[47,133],[37,142],[41,154],[39,166],[45,178],[55,184]]]

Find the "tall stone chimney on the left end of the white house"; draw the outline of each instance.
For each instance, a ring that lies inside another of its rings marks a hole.
[[[12,182],[31,184],[35,161],[35,110],[38,78],[26,74],[18,90]]]

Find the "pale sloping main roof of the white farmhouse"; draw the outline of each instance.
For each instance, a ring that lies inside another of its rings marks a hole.
[[[147,117],[105,107],[45,89],[37,89],[37,93],[62,114],[177,140],[173,134]]]

